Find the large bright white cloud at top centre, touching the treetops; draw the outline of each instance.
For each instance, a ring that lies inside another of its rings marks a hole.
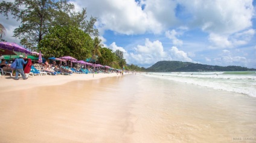
[[[177,23],[174,1],[77,0],[72,3],[77,10],[86,7],[89,15],[98,17],[96,26],[101,34],[107,29],[127,35],[145,32],[159,34]],[[146,5],[144,9],[142,5]]]

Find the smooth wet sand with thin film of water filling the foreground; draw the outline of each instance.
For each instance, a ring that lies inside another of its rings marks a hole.
[[[255,142],[255,118],[243,94],[114,76],[1,91],[0,142]]]

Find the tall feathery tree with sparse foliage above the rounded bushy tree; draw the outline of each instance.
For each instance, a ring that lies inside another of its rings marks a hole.
[[[36,45],[48,34],[50,28],[60,26],[77,26],[89,35],[98,35],[93,28],[96,18],[86,20],[86,9],[75,13],[74,5],[67,0],[15,0],[0,3],[0,13],[8,19],[11,14],[14,19],[21,20],[19,28],[14,30],[14,37],[27,39]]]

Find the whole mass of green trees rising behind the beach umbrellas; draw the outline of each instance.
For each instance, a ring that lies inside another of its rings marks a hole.
[[[87,19],[86,8],[75,12],[68,0],[15,0],[0,2],[0,13],[20,20],[14,37],[26,48],[43,53],[43,58],[72,56],[75,59],[109,65],[113,68],[141,71],[137,65],[127,65],[123,52],[103,47],[94,28],[95,17]],[[2,30],[3,27],[0,28]],[[1,32],[1,31],[0,31]],[[1,34],[5,34],[4,31]],[[93,37],[93,38],[92,38]]]

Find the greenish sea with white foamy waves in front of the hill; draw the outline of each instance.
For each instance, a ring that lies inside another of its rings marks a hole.
[[[145,75],[256,97],[255,71],[167,72]]]

